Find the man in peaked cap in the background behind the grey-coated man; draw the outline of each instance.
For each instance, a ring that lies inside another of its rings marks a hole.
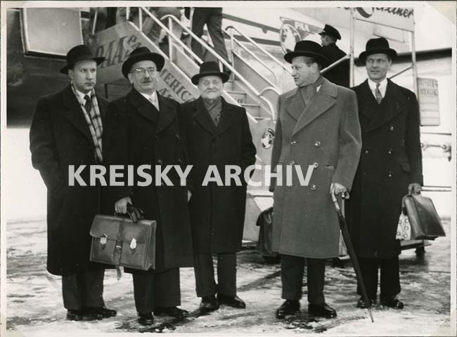
[[[346,56],[346,53],[336,45],[336,41],[341,39],[338,29],[330,25],[325,25],[319,35],[321,35],[322,52],[328,58],[329,65]],[[338,86],[349,88],[349,60],[345,60],[332,69],[327,70],[323,73],[323,77]]]

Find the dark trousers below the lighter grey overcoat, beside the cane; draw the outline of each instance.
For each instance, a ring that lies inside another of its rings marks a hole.
[[[304,259],[305,258],[300,258],[298,256],[281,255],[282,298],[285,300],[300,300],[300,298],[302,298]],[[325,276],[326,260],[322,258],[307,258],[309,303],[325,303],[326,300],[323,296],[323,282]]]

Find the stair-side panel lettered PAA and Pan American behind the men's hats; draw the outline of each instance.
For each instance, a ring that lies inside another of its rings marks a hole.
[[[162,51],[131,22],[123,22],[96,34],[91,41],[91,48],[95,55],[105,57],[98,67],[98,82],[109,84],[122,79],[122,63],[127,60],[131,51],[140,46],[148,47],[153,53],[162,54]],[[166,57],[157,83],[157,91],[160,95],[173,98],[178,102],[186,102],[198,97],[198,89],[192,84],[191,79],[172,65]]]

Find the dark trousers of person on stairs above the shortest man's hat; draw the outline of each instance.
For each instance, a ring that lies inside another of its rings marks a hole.
[[[201,38],[205,24],[212,43],[214,44],[214,51],[216,51],[221,58],[230,62],[228,60],[224,35],[222,34],[222,8],[195,8],[192,17],[192,32]],[[198,41],[192,39],[191,48],[192,51],[203,60],[203,49]]]

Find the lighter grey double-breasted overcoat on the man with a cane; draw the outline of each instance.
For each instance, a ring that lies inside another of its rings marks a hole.
[[[305,107],[295,88],[278,100],[278,118],[271,154],[271,167],[282,166],[283,184],[272,183],[273,251],[305,258],[332,258],[338,254],[340,230],[330,197],[330,183],[348,189],[356,172],[361,149],[357,102],[353,91],[327,79]],[[297,174],[286,186],[285,166],[297,166],[306,175],[314,170],[308,185]]]

